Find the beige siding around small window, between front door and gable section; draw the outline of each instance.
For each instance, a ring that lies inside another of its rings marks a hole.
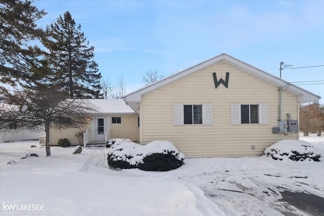
[[[138,115],[113,115],[111,117],[121,117],[121,124],[111,124],[111,138],[139,141]]]

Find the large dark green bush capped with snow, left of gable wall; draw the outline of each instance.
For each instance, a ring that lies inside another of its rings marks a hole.
[[[108,165],[114,168],[139,168],[146,171],[168,171],[183,164],[184,155],[168,141],[139,145],[118,139],[108,151]]]

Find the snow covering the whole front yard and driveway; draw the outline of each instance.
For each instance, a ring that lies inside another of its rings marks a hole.
[[[324,137],[301,139],[324,155]],[[307,215],[281,193],[324,197],[323,157],[186,158],[178,169],[152,172],[108,168],[105,147],[73,150],[51,147],[46,157],[35,141],[1,143],[0,215]],[[20,159],[28,153],[39,157]]]

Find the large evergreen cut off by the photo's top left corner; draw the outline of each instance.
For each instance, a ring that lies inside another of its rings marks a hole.
[[[35,78],[33,68],[39,66],[37,57],[42,51],[30,41],[42,36],[35,21],[46,13],[32,2],[0,0],[0,83],[20,85]],[[4,85],[0,90],[6,91]]]

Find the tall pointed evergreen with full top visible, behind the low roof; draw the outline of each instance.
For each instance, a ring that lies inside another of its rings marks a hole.
[[[94,47],[80,29],[68,11],[47,26],[43,44],[49,51],[52,82],[70,98],[99,98],[101,74],[93,60]]]

